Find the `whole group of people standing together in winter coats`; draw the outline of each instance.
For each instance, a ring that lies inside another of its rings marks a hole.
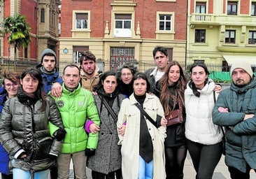
[[[182,179],[187,150],[197,179],[213,177],[222,156],[232,179],[250,178],[255,159],[255,75],[246,62],[232,64],[232,84],[222,90],[196,62],[189,75],[166,48],[153,52],[145,73],[132,64],[102,73],[92,52],[80,68],[43,50],[41,64],[21,76],[9,71],[0,89],[2,178]],[[190,77],[190,79],[189,79]],[[179,110],[182,122],[167,116]],[[225,134],[222,133],[225,127]],[[9,162],[12,172],[9,171]]]

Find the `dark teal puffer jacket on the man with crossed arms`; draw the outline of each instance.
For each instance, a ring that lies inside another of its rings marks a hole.
[[[228,108],[229,113],[220,113],[219,107]],[[226,127],[227,166],[246,172],[246,163],[256,169],[256,115],[243,121],[246,114],[256,113],[256,78],[244,87],[232,83],[223,90],[213,108],[213,123]]]

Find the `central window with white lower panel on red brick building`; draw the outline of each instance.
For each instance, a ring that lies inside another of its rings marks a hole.
[[[131,37],[131,14],[115,14],[115,37]]]

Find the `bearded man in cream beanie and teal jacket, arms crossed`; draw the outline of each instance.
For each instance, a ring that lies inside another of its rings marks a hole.
[[[256,169],[256,78],[242,60],[230,72],[231,87],[220,92],[213,122],[226,129],[225,163],[231,178],[249,179],[250,169]]]

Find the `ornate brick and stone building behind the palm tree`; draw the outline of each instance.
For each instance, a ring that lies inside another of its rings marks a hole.
[[[20,14],[26,17],[31,27],[31,43],[27,48],[17,50],[18,59],[36,61],[44,48],[58,52],[59,4],[59,0],[0,0],[0,22],[4,17]],[[3,35],[0,35],[0,57],[14,58],[14,47]]]

